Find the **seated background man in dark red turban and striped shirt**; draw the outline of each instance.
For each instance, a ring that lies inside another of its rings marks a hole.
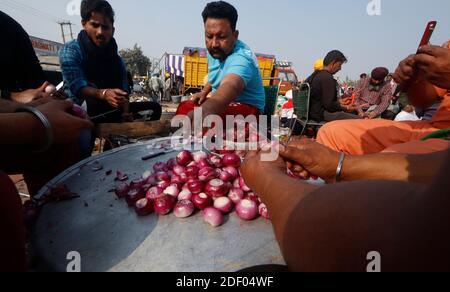
[[[360,117],[376,119],[387,110],[392,100],[392,85],[385,79],[386,68],[375,68],[371,78],[362,79],[356,87],[356,110]]]

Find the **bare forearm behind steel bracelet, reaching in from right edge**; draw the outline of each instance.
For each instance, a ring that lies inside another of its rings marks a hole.
[[[344,161],[342,179],[390,180],[431,184],[448,152],[422,155],[373,154],[348,156]]]

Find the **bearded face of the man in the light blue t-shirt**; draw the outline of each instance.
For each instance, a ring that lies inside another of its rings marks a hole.
[[[208,18],[205,22],[205,42],[209,54],[220,61],[233,52],[239,37],[239,31],[233,31],[227,19]]]

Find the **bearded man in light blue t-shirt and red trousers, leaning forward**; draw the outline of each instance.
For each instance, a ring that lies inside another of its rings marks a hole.
[[[203,117],[263,114],[265,93],[258,61],[251,49],[238,40],[236,9],[224,1],[212,2],[202,16],[208,49],[208,83],[191,101],[180,105],[177,115],[192,119],[197,106],[202,107]]]

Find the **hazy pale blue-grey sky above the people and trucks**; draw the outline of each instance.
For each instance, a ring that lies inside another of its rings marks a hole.
[[[142,47],[159,59],[180,54],[185,46],[204,47],[201,12],[207,0],[110,0],[116,12],[119,48]],[[384,66],[394,71],[416,51],[425,26],[437,20],[431,39],[450,39],[449,0],[230,0],[238,12],[240,39],[255,52],[294,63],[307,77],[318,58],[341,50],[349,62],[338,74],[357,79]],[[0,0],[0,10],[32,36],[62,42],[58,21],[70,21],[75,37],[81,29],[80,0]],[[369,4],[380,4],[367,10]],[[379,8],[379,9],[378,9]],[[75,13],[74,13],[75,12]],[[379,15],[378,15],[379,14]],[[68,33],[68,30],[67,30]],[[69,36],[70,38],[70,36]]]

